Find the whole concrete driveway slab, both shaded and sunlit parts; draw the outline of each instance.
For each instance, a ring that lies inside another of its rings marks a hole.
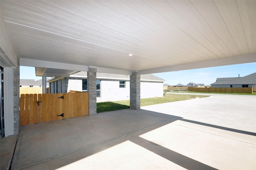
[[[256,169],[256,96],[215,95],[22,126],[12,170]]]

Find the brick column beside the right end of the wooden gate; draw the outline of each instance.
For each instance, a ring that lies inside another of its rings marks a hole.
[[[87,91],[89,93],[89,116],[96,115],[96,68],[89,67],[89,71],[87,72]]]

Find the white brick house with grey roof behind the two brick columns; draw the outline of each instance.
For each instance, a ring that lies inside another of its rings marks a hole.
[[[96,78],[97,102],[130,100],[130,75],[97,72]],[[164,81],[152,74],[140,75],[140,98],[162,97]],[[87,72],[52,78],[48,82],[50,93],[66,93],[70,90],[86,92]]]

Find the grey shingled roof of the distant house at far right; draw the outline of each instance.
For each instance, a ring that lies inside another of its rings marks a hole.
[[[211,85],[256,84],[256,72],[244,77],[217,78]]]

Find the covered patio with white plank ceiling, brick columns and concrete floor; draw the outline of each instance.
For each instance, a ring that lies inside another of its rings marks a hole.
[[[12,169],[254,168],[254,96],[140,110],[139,80],[256,62],[255,9],[249,0],[1,0],[0,127],[18,136]],[[90,116],[20,127],[20,66],[36,68],[43,92],[47,76],[86,71]],[[131,109],[95,115],[96,72],[130,75]]]

